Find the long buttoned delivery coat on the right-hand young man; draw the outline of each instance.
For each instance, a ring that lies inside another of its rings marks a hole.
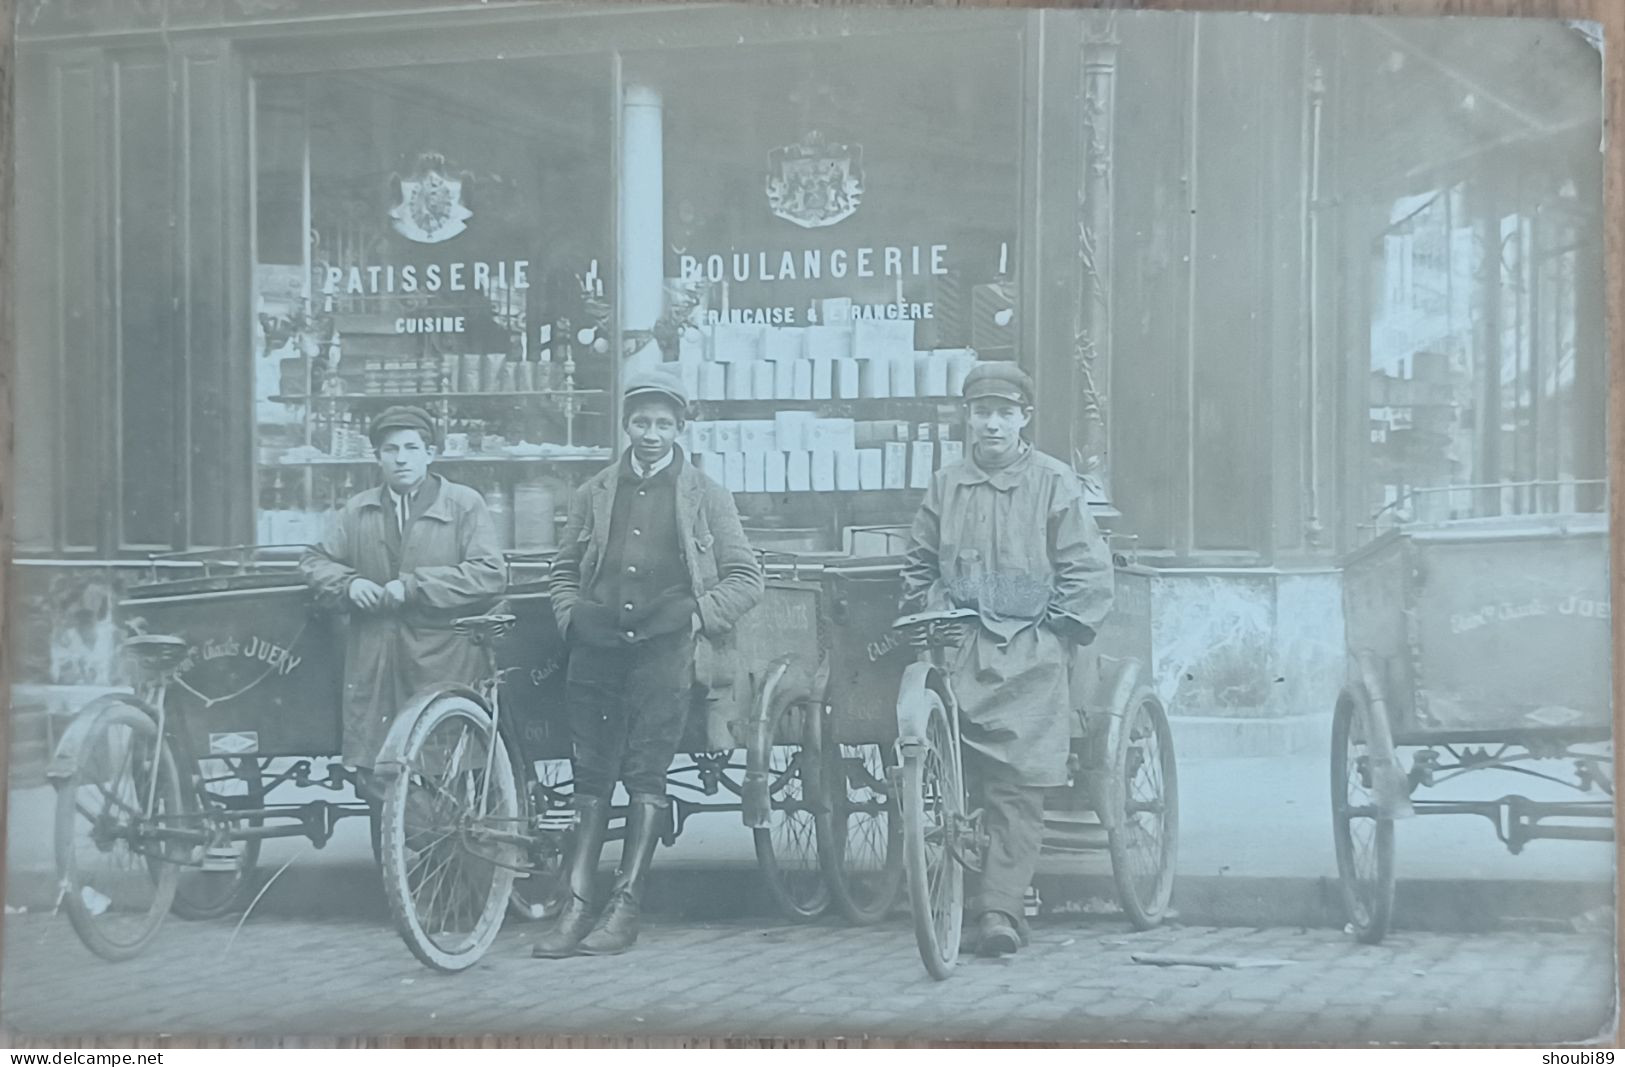
[[[1112,607],[1112,554],[1077,476],[1029,448],[999,471],[967,458],[931,479],[904,562],[900,611],[973,607],[951,653],[967,747],[1027,786],[1066,784],[1068,666]]]

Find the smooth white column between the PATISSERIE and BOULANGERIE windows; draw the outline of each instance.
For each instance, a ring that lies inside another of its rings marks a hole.
[[[665,146],[658,89],[629,84],[621,102],[621,374],[661,361],[650,333],[665,310]]]

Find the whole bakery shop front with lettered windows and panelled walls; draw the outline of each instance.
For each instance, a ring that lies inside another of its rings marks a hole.
[[[673,362],[759,547],[882,554],[1006,359],[1175,713],[1306,719],[1376,507],[1602,464],[1596,49],[1536,29],[21,3],[18,708],[120,682],[150,554],[314,539],[384,406],[546,551]]]

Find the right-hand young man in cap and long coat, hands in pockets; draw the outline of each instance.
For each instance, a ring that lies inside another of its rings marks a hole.
[[[972,607],[952,653],[965,776],[988,853],[972,882],[977,950],[1024,944],[1043,793],[1066,784],[1068,667],[1112,606],[1112,555],[1077,476],[1022,437],[1032,380],[1012,362],[965,375],[967,453],[931,477],[904,562],[902,614]]]

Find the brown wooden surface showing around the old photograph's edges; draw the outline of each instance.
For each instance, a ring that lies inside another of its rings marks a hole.
[[[10,586],[10,529],[11,529],[11,361],[13,346],[13,271],[16,268],[15,247],[11,244],[11,145],[13,145],[13,24],[15,2],[0,0],[0,159],[5,169],[0,171],[0,700],[6,702],[6,713],[0,715],[0,752],[8,752],[8,656],[6,656],[6,616],[11,601],[6,596]],[[663,0],[644,0],[660,3]],[[796,5],[800,0],[754,0],[757,3]],[[1625,0],[1082,0],[1074,3],[1038,3],[1037,0],[861,0],[861,5],[894,6],[894,8],[957,8],[957,6],[990,6],[990,8],[1032,8],[1032,6],[1064,6],[1077,10],[1133,8],[1144,11],[1266,11],[1266,13],[1350,13],[1350,15],[1488,15],[1513,18],[1571,18],[1591,19],[1604,28],[1604,132],[1607,135],[1607,166],[1604,175],[1604,247],[1607,263],[1607,331],[1609,331],[1609,476],[1612,499],[1609,503],[1610,529],[1614,531],[1610,565],[1614,603],[1620,599],[1620,575],[1625,575],[1625,547],[1618,531],[1625,526],[1625,505],[1618,492],[1620,463],[1625,456],[1625,377],[1618,374],[1622,356],[1625,356],[1625,138],[1618,136],[1618,117],[1625,114]],[[830,6],[858,6],[853,0],[832,0]],[[1625,663],[1625,643],[1620,624],[1620,612],[1614,612],[1614,661]],[[1614,715],[1615,734],[1618,734],[1620,711],[1625,708],[1625,672],[1614,672]],[[0,760],[0,820],[5,817],[6,794],[3,789],[6,760]],[[3,882],[5,854],[0,851],[0,882]],[[1625,882],[1625,864],[1620,864],[1615,885]],[[1617,926],[1617,935],[1625,926]],[[3,952],[3,944],[0,944]],[[1620,937],[1620,957],[1625,957],[1625,935]],[[0,991],[3,996],[3,991]],[[0,1044],[5,1035],[0,1035]],[[260,1048],[265,1043],[237,1043],[229,1038],[219,1039],[174,1039],[174,1041],[141,1041],[141,1048],[234,1048],[237,1044]],[[283,1048],[301,1048],[302,1041],[288,1038],[280,1043]],[[843,1048],[848,1044],[864,1044],[871,1048],[899,1048],[895,1041],[744,1041],[715,1039],[692,1036],[681,1041],[671,1039],[604,1039],[593,1036],[559,1036],[536,1035],[528,1038],[384,1038],[341,1043],[338,1048]],[[128,1048],[128,1041],[75,1041],[62,1036],[49,1043],[18,1043],[18,1048]],[[325,1048],[325,1044],[323,1044]]]

